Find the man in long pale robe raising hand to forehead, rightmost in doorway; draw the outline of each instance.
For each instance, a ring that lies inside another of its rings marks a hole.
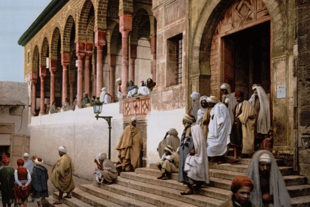
[[[260,85],[254,84],[253,95],[249,99],[256,110],[256,121],[254,124],[255,150],[257,150],[270,130],[270,103],[269,98]]]

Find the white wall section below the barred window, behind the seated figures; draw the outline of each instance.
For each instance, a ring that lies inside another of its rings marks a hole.
[[[157,146],[170,128],[175,128],[181,138],[185,108],[171,111],[151,111],[147,123],[147,166],[159,161]]]

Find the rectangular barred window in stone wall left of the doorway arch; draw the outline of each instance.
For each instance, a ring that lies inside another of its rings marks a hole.
[[[167,86],[182,83],[182,48],[182,34],[167,39]]]

